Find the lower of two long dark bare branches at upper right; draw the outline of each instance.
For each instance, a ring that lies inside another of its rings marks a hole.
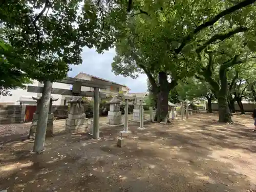
[[[239,27],[233,31],[230,31],[226,34],[216,34],[214,36],[212,36],[209,40],[207,40],[204,45],[202,45],[201,47],[199,47],[196,52],[200,53],[201,51],[203,51],[204,48],[206,48],[208,45],[210,45],[212,42],[215,42],[216,40],[225,40],[226,38],[229,38],[230,36],[236,34],[236,33],[240,33],[240,32],[244,32],[248,30],[248,28],[244,28],[244,27]]]

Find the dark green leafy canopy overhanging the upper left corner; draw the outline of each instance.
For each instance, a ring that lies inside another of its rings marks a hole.
[[[111,47],[110,13],[118,8],[113,5],[82,0],[3,1],[1,88],[22,87],[27,78],[62,79],[71,70],[70,64],[82,62],[84,46],[98,52]]]

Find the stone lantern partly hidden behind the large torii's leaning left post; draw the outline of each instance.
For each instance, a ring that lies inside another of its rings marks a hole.
[[[35,138],[36,133],[36,127],[37,122],[39,118],[39,109],[41,107],[41,97],[32,97],[34,100],[36,100],[36,111],[33,114],[33,120],[30,127],[29,132],[29,139]],[[49,112],[48,112],[48,120],[47,120],[47,128],[46,128],[46,137],[52,137],[53,136],[53,113],[52,113],[52,102],[57,101],[58,99],[54,99],[51,97],[50,99],[50,106],[49,106]]]

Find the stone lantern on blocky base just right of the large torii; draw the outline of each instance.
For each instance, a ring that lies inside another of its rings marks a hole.
[[[110,104],[110,111],[108,112],[108,119],[110,125],[122,124],[122,112],[120,111],[121,100],[117,97],[113,97]]]

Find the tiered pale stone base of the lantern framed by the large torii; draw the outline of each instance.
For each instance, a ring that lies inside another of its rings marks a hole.
[[[88,118],[86,114],[69,114],[66,119],[66,132],[79,133],[86,132],[88,129]]]

